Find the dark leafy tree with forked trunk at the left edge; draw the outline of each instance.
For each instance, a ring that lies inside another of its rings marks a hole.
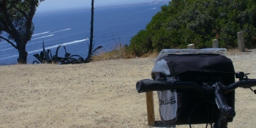
[[[19,64],[26,64],[26,44],[34,31],[32,19],[39,1],[44,0],[0,0],[0,39],[18,50]],[[7,38],[1,36],[4,33]]]

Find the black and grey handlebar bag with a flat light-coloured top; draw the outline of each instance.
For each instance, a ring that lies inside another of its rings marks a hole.
[[[151,72],[153,80],[180,80],[211,86],[235,82],[233,62],[225,49],[162,50]],[[207,124],[219,119],[214,96],[207,98],[191,89],[158,91],[159,113],[165,124]],[[235,91],[225,94],[227,104],[235,107]]]

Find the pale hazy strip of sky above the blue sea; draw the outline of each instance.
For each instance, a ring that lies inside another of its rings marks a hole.
[[[154,0],[94,0],[94,7],[110,5],[136,4]],[[91,7],[91,0],[45,0],[39,4],[37,12],[45,10],[59,10],[73,7]]]

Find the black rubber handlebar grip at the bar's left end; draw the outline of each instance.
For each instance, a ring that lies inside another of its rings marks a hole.
[[[144,79],[139,80],[136,83],[136,89],[138,93],[148,92],[148,91],[162,91],[162,90],[170,90],[173,88],[172,81],[157,81]]]

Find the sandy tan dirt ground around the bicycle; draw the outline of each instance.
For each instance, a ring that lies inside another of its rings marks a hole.
[[[236,72],[256,78],[255,53],[232,50],[227,57]],[[1,66],[0,127],[148,127],[146,94],[138,94],[135,83],[151,78],[153,67],[154,58]],[[157,92],[154,109],[160,121]],[[236,117],[228,127],[255,126],[256,95],[237,89]]]

